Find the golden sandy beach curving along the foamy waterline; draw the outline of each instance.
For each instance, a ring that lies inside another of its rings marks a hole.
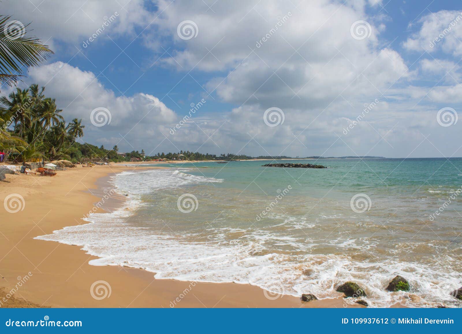
[[[133,165],[79,165],[54,177],[6,175],[0,182],[1,203],[10,194],[20,194],[24,205],[17,213],[2,208],[1,307],[343,307],[340,293],[337,299],[304,303],[292,296],[267,298],[264,290],[251,285],[154,279],[141,269],[91,266],[88,261],[95,257],[80,247],[33,239],[86,224],[82,218],[101,200],[98,188],[109,175],[153,168]],[[106,298],[92,297],[91,286],[97,281],[110,286]]]

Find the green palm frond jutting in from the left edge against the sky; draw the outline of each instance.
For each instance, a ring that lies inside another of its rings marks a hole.
[[[25,36],[27,24],[0,15],[0,85],[16,85],[23,67],[36,66],[53,54],[34,36]]]

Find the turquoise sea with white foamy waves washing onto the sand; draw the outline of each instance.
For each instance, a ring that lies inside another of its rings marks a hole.
[[[111,182],[127,207],[39,238],[84,246],[95,265],[249,283],[268,298],[332,298],[353,280],[371,306],[461,306],[450,293],[462,286],[462,158],[270,162],[123,172]],[[410,292],[385,291],[395,275]]]

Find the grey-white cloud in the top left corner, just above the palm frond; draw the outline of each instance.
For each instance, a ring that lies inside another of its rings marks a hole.
[[[146,27],[155,18],[144,0],[15,0],[8,1],[8,15],[23,24],[32,23],[33,34],[52,44],[82,43],[98,29],[115,35],[134,34],[135,27]],[[105,26],[104,22],[115,19]]]

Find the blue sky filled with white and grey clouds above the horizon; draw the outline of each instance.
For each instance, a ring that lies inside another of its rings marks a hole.
[[[44,85],[67,121],[82,119],[79,142],[147,155],[462,156],[460,0],[0,8],[55,52],[19,86]]]

